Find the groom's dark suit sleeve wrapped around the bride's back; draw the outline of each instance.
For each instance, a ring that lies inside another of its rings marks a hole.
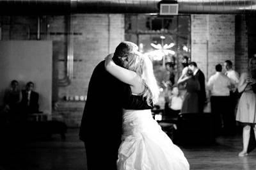
[[[122,94],[124,95],[122,105],[124,109],[152,109],[152,105],[147,104],[146,98],[143,98],[141,95],[132,95],[129,85],[124,84],[124,88],[122,90]]]

